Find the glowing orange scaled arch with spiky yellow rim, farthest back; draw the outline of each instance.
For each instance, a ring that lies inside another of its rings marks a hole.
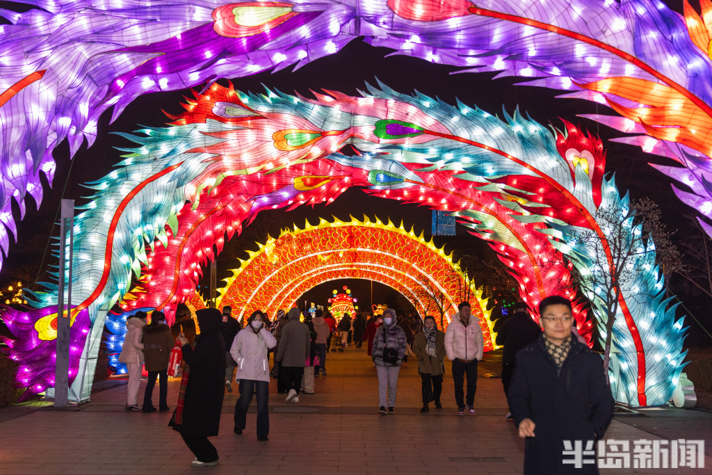
[[[220,290],[219,306],[231,306],[236,315],[255,309],[274,315],[278,308],[293,305],[309,288],[336,278],[382,282],[411,299],[421,311],[428,291],[443,293],[454,309],[464,298],[465,279],[451,254],[422,234],[390,221],[321,219],[317,225],[306,223],[304,229],[285,229],[258,246],[258,251],[248,251],[249,258],[240,261]],[[474,287],[469,294],[485,333],[486,349],[491,350],[494,334],[486,300]]]

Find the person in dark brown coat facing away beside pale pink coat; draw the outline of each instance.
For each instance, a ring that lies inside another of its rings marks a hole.
[[[152,395],[158,377],[160,378],[158,407],[164,412],[170,409],[167,402],[168,360],[173,348],[173,335],[171,335],[171,328],[166,325],[166,315],[163,312],[154,310],[151,313],[151,323],[143,328],[142,341],[146,371],[148,372],[148,382],[143,397],[143,412],[155,412],[156,410],[152,402]]]

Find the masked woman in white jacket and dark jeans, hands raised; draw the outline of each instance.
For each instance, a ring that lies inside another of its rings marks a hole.
[[[252,394],[257,395],[257,439],[268,440],[269,434],[269,360],[268,350],[277,345],[277,340],[269,332],[268,320],[257,310],[247,319],[244,330],[240,330],[232,342],[230,354],[237,363],[235,379],[240,381],[240,397],[235,404],[235,434],[242,434],[246,426],[247,408]]]

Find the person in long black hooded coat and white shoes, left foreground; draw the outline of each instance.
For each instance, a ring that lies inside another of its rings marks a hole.
[[[195,348],[190,347],[184,336],[179,337],[189,373],[183,406],[181,408],[179,402],[169,425],[180,432],[185,444],[195,454],[192,466],[217,465],[218,451],[208,437],[218,434],[225,390],[225,342],[220,333],[222,315],[216,308],[201,308],[195,315],[200,329]],[[184,384],[182,381],[181,385]]]

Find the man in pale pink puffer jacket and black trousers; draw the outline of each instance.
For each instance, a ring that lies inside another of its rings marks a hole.
[[[445,351],[452,361],[452,379],[455,383],[457,415],[465,415],[463,391],[464,376],[467,375],[468,412],[475,414],[475,391],[477,390],[477,362],[482,359],[485,347],[479,319],[470,313],[470,304],[463,302],[457,306],[459,312],[453,315],[445,332]]]

